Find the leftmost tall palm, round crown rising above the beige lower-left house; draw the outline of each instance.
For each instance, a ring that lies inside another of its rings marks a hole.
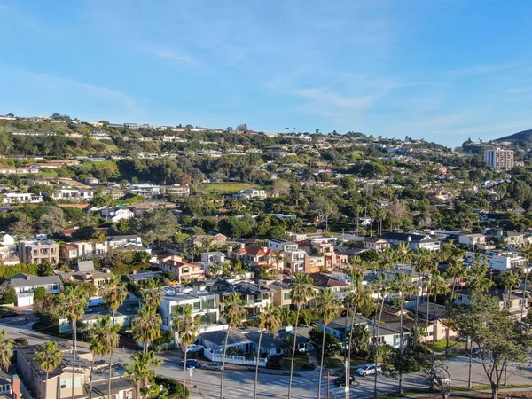
[[[66,316],[72,325],[72,399],[74,399],[74,379],[75,379],[75,354],[76,354],[76,324],[85,313],[87,307],[87,293],[80,286],[67,286],[64,293],[59,293],[59,312]]]

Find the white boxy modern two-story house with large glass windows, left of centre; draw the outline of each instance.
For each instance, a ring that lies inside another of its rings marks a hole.
[[[189,286],[165,286],[162,289],[160,301],[160,316],[162,324],[168,327],[172,324],[172,315],[183,311],[187,305],[192,306],[192,316],[201,317],[201,325],[218,323],[219,309],[216,295],[207,291],[198,291]],[[205,327],[203,328],[205,330]]]

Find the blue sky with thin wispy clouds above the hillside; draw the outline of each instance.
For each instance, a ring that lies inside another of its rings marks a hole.
[[[528,0],[0,0],[0,113],[349,130],[532,129]]]

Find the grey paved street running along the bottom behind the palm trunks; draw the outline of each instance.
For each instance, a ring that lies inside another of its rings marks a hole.
[[[4,329],[6,337],[18,338],[25,337],[30,344],[42,343],[44,340],[57,340],[66,345],[70,340],[58,339],[39,332],[27,330],[21,326],[0,324],[0,329]],[[80,346],[85,344],[80,343]],[[113,359],[121,362],[129,362],[129,355],[131,351],[123,353],[121,349],[115,352]],[[158,367],[155,372],[161,376],[170,377],[178,380],[183,379],[183,367],[178,365],[179,359],[176,356],[163,354],[160,357],[165,360],[165,363]],[[454,387],[464,387],[467,385],[468,373],[468,357],[458,356],[450,359],[449,371],[450,379]],[[473,362],[473,385],[485,385],[487,379],[482,369],[481,363],[478,360]],[[318,371],[314,372],[298,372],[298,376],[293,379],[293,395],[294,399],[315,399],[317,398],[317,379],[319,377]],[[330,398],[345,398],[344,387],[336,387],[330,382]],[[289,378],[284,375],[274,374],[259,374],[259,387],[257,397],[261,399],[275,399],[285,398],[288,394]],[[404,387],[422,387],[419,385],[419,379],[415,377],[407,377],[404,380]],[[532,364],[526,367],[512,366],[508,368],[508,383],[511,384],[532,384]],[[216,398],[220,395],[220,372],[194,370],[191,378],[187,375],[187,386],[191,388],[191,399]],[[194,388],[195,386],[195,388]],[[397,389],[397,381],[395,379],[387,378],[386,376],[379,376],[379,395],[395,392]],[[225,371],[224,379],[224,397],[226,399],[248,398],[253,397],[254,391],[254,372],[247,372],[239,368],[231,368],[228,365]],[[327,379],[326,374],[322,379],[322,396],[327,397]],[[352,385],[349,390],[349,397],[351,399],[365,399],[373,396],[373,379],[372,377],[357,377],[356,384]]]

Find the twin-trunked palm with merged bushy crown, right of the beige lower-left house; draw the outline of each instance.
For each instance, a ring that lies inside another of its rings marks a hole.
[[[94,325],[90,332],[90,350],[94,354],[92,362],[94,363],[94,356],[109,355],[109,376],[107,378],[107,397],[111,397],[111,377],[113,375],[113,351],[118,348],[119,336],[118,332],[120,325],[112,325],[111,317],[97,317],[96,325]],[[90,397],[92,397],[92,365],[90,366]]]

